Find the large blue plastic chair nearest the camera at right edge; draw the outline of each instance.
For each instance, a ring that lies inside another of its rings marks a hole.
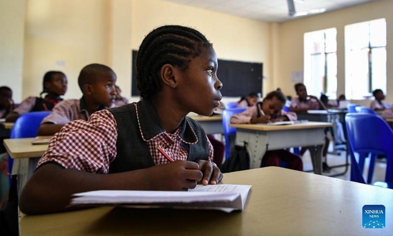
[[[371,114],[347,114],[345,123],[351,156],[350,180],[365,183],[363,168],[367,153],[371,153],[374,158],[378,154],[385,154],[388,159],[385,182],[376,182],[373,185],[393,188],[393,149],[391,148],[393,131],[388,123],[379,116]],[[355,159],[355,152],[359,154],[359,162]],[[370,160],[369,173],[374,169],[371,167],[371,162]]]

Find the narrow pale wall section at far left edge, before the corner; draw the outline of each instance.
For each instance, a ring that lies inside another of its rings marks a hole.
[[[15,102],[22,98],[25,0],[0,1],[0,86],[13,90]]]

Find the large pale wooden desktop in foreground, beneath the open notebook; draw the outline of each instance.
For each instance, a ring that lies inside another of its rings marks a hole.
[[[392,189],[279,167],[226,173],[223,183],[253,185],[242,212],[99,207],[22,214],[20,235],[392,235]],[[386,228],[363,228],[364,205],[386,207]]]

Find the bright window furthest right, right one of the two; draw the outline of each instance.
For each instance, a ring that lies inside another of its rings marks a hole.
[[[345,95],[367,99],[374,89],[386,92],[386,21],[345,26]]]

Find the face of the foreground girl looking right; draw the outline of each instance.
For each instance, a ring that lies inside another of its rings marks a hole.
[[[188,69],[181,72],[176,100],[185,114],[195,112],[210,116],[220,106],[219,91],[223,84],[217,78],[217,56],[213,48],[204,47],[197,58],[191,60]]]

